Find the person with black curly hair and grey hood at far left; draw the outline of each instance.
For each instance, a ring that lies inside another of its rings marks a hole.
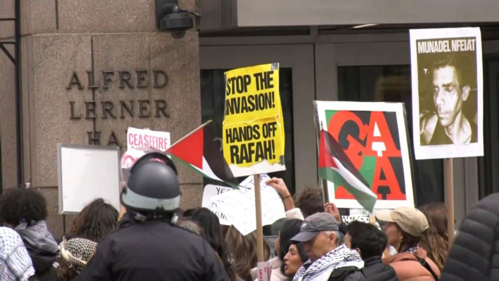
[[[0,198],[0,217],[5,226],[14,229],[22,239],[38,281],[58,280],[56,256],[58,245],[47,229],[47,203],[33,189],[9,189]]]

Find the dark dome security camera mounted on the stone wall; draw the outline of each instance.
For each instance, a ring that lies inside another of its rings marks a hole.
[[[194,27],[194,18],[187,10],[179,9],[177,0],[156,0],[156,25],[160,30],[170,31],[172,37],[182,38],[187,29]]]

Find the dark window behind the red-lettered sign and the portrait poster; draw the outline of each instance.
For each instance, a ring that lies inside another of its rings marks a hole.
[[[339,66],[338,99],[343,101],[403,102],[407,111],[408,143],[412,149],[410,65]],[[416,206],[444,201],[443,161],[411,157]]]

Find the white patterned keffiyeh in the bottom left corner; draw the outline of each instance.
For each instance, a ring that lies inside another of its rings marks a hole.
[[[0,227],[0,280],[26,281],[34,275],[31,258],[15,230]]]

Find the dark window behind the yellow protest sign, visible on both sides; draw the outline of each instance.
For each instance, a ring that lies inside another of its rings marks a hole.
[[[203,122],[213,120],[215,138],[222,140],[222,121],[224,120],[225,82],[224,69],[201,70],[201,115]],[[286,171],[269,173],[270,177],[284,179],[289,192],[294,193],[294,158],[293,158],[293,114],[292,114],[292,79],[291,68],[279,69],[279,91],[281,96],[282,114],[284,115],[285,132],[285,163]],[[242,181],[244,178],[241,178]],[[204,185],[220,184],[217,181],[204,179]]]

